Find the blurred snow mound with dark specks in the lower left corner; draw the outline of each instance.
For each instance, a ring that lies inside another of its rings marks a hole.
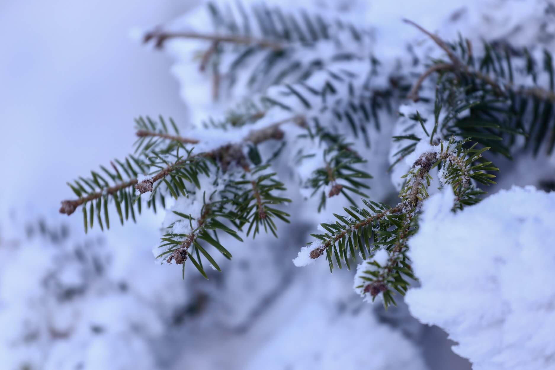
[[[0,234],[0,368],[160,368],[151,341],[189,301],[174,270],[127,242],[74,237],[43,217],[4,220]],[[133,256],[129,258],[129,256]]]

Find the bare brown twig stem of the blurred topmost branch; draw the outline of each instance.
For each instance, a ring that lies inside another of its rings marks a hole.
[[[145,34],[144,42],[148,42],[151,39],[156,39],[156,47],[162,48],[165,40],[171,38],[190,38],[199,40],[208,40],[213,42],[229,42],[234,44],[255,44],[262,48],[268,48],[273,50],[282,50],[284,45],[281,43],[270,40],[270,39],[259,39],[250,36],[229,36],[229,35],[218,35],[218,34],[206,34],[206,33],[196,33],[196,32],[163,32],[159,29],[155,29],[152,32]]]

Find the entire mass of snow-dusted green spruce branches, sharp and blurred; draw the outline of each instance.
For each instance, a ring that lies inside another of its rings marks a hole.
[[[441,59],[417,63],[415,78],[414,70],[391,70],[380,62],[364,27],[264,4],[210,4],[208,11],[214,34],[156,29],[145,42],[163,48],[170,39],[206,40],[200,69],[216,100],[225,95],[236,103],[223,118],[199,124],[230,139],[213,144],[181,136],[178,125],[162,116],[137,119],[134,154],[68,183],[77,199],[63,201],[60,212],[82,207],[85,232],[95,223],[109,227],[110,203],[123,224],[129,216],[135,220],[143,201],[156,211],[173,197],[171,212],[178,218],[165,225],[158,257],[183,268],[190,260],[208,278],[206,263],[220,271],[211,252],[231,259],[221,233],[239,241],[241,234],[255,237],[263,229],[279,235],[276,221],[288,222],[282,206],[290,199],[271,166],[276,158],[295,156],[295,165],[315,164],[301,185],[320,197],[318,211],[340,194],[352,204],[333,213],[335,222],[321,224],[323,234],[311,234],[307,258],[325,256],[330,270],[364,260],[356,289],[372,300],[381,294],[387,307],[395,304],[395,291],[404,295],[417,280],[407,241],[418,230],[434,178],[433,186],[452,187],[453,210],[460,210],[480,201],[484,185],[495,184],[491,172],[498,168],[490,159],[512,158],[522,148],[551,154],[555,146],[547,51],[541,61],[499,43],[484,43],[478,51],[462,37],[446,43],[413,24],[444,52]],[[238,85],[248,97],[236,95]],[[391,169],[413,159],[394,207],[367,200],[372,175],[364,165],[370,158],[359,150],[371,146],[372,135],[382,135],[380,115],[398,117]],[[295,153],[284,150],[293,140],[303,144]],[[270,141],[281,144],[265,156],[259,148]],[[374,258],[380,250],[387,261]]]

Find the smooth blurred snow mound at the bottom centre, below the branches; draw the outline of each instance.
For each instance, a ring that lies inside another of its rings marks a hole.
[[[302,289],[308,299],[246,369],[427,369],[420,350],[400,331],[380,324],[368,306],[352,296],[337,300],[341,294],[334,292],[349,283],[345,276],[314,268],[309,273],[312,278],[293,288]],[[314,291],[319,281],[326,282],[331,294]]]

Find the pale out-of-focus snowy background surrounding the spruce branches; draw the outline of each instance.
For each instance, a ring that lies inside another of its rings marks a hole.
[[[553,22],[538,22],[552,16],[546,1],[296,2],[315,3],[375,26],[382,43],[418,37],[408,17],[444,38],[552,47]],[[469,369],[403,305],[362,303],[350,272],[295,268],[308,211],[279,241],[236,247],[210,281],[154,262],[163,212],[86,236],[79,215],[58,213],[65,181],[129,152],[133,118],[186,121],[172,60],[129,34],[195,5],[0,2],[0,368]]]

